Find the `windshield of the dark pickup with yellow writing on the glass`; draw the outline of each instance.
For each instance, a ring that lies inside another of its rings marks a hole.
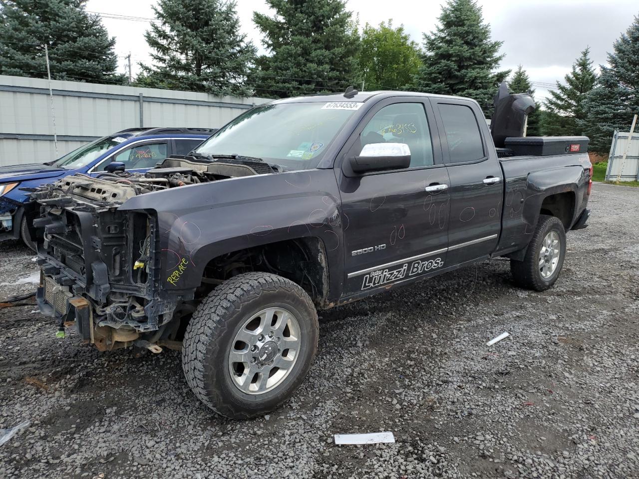
[[[357,102],[276,103],[251,109],[196,149],[203,155],[256,156],[285,170],[318,165]]]

